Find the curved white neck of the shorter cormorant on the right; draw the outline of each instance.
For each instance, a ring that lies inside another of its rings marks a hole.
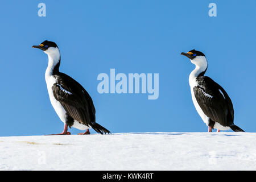
[[[191,63],[196,65],[196,68],[189,75],[189,85],[195,86],[195,78],[201,74],[204,75],[207,70],[207,59],[205,56],[197,56],[195,59],[191,60]]]

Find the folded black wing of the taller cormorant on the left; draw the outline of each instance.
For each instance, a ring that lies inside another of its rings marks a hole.
[[[68,115],[86,126],[95,122],[95,108],[92,98],[79,82],[64,73],[57,75],[56,79],[56,83],[52,86],[53,95]]]

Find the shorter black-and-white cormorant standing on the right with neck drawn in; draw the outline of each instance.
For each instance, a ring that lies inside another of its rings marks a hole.
[[[226,91],[211,78],[204,76],[208,63],[204,53],[193,49],[181,55],[187,56],[196,68],[189,75],[193,104],[197,113],[208,126],[208,132],[212,129],[243,131],[234,125],[234,109]],[[243,131],[244,132],[244,131]]]

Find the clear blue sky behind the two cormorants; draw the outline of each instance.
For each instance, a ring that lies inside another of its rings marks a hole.
[[[40,2],[46,17],[38,16]],[[217,17],[208,15],[210,2]],[[188,84],[194,65],[180,55],[194,48],[207,56],[206,75],[232,99],[234,123],[255,132],[255,8],[254,0],[1,1],[0,136],[63,130],[44,80],[47,55],[31,48],[46,39],[60,48],[60,71],[84,86],[97,122],[112,133],[207,131]],[[97,76],[109,75],[110,68],[126,75],[159,73],[158,100],[98,93]]]

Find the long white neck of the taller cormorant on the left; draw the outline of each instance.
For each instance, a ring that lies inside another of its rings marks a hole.
[[[48,67],[46,69],[46,77],[59,72],[60,51],[59,48],[50,47],[44,51],[48,55]]]

